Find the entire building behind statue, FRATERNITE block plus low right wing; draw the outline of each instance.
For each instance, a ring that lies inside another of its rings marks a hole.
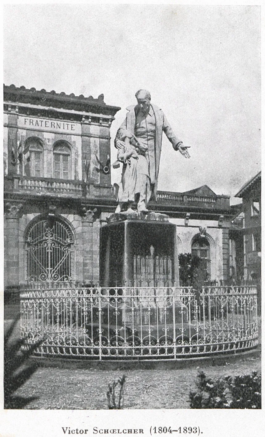
[[[97,284],[100,228],[117,205],[110,127],[120,108],[103,95],[11,85],[4,86],[3,109],[5,288]],[[149,208],[177,225],[179,253],[198,255],[210,280],[228,281],[234,214],[228,196],[206,185],[158,191]]]

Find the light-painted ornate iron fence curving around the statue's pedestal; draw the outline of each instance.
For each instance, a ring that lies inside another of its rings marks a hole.
[[[20,292],[21,331],[38,355],[177,359],[258,343],[255,286],[54,288]]]

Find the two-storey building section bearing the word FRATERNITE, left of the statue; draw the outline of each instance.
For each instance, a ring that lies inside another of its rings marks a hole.
[[[102,95],[4,86],[5,286],[98,280],[99,218],[115,204],[110,126],[119,109]]]

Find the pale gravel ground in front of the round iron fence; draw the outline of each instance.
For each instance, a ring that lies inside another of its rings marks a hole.
[[[260,358],[245,357],[222,366],[194,365],[168,370],[38,368],[16,395],[34,396],[26,409],[108,409],[108,383],[126,375],[124,409],[189,408],[189,391],[198,370],[207,376],[245,375],[261,370]],[[199,366],[199,367],[198,367]]]

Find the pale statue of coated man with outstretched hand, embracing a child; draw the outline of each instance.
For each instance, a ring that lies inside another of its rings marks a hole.
[[[174,150],[190,158],[187,148],[174,135],[163,111],[151,104],[149,91],[139,90],[135,97],[137,105],[126,108],[126,119],[114,142],[116,149],[119,149],[117,158],[123,163],[116,212],[126,211],[134,202],[139,212],[147,212],[146,205],[151,195],[156,199],[162,132],[165,132]]]

